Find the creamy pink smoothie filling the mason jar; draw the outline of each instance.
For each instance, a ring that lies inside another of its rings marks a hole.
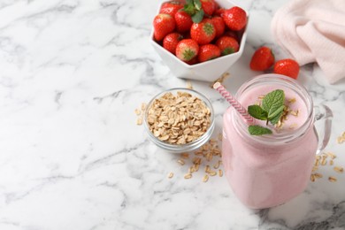
[[[282,134],[294,135],[299,127],[308,123],[307,105],[295,91],[282,86],[262,85],[246,90],[238,100],[247,108],[274,89],[284,90],[290,112],[280,127],[268,126],[273,130],[272,135],[256,137],[248,132],[241,133],[238,123],[234,122],[237,113],[232,107],[223,117],[226,178],[242,203],[255,209],[285,203],[303,192],[308,185],[318,147],[312,121],[295,139],[288,142],[274,140]],[[257,120],[257,125],[266,126],[262,120]]]

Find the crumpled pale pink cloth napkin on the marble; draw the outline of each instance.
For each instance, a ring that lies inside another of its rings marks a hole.
[[[299,65],[317,62],[331,84],[345,77],[345,0],[292,0],[271,27]]]

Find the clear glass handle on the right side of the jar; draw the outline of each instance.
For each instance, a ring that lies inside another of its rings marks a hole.
[[[314,106],[314,112],[316,122],[324,120],[323,126],[321,126],[319,130],[321,132],[317,132],[317,134],[321,134],[321,140],[318,139],[317,154],[319,154],[323,149],[326,148],[326,145],[331,137],[333,112],[325,104]]]

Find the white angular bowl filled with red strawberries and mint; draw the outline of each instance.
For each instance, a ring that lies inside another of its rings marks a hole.
[[[167,1],[153,20],[151,44],[175,76],[213,81],[241,58],[248,19],[228,0]]]

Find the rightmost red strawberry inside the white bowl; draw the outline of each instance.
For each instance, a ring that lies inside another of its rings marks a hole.
[[[223,13],[226,26],[234,31],[239,31],[247,24],[247,13],[240,7],[234,6]]]

